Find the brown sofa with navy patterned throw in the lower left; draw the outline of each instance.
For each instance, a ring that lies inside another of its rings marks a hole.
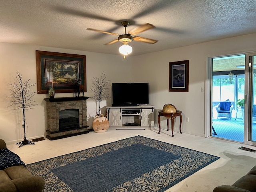
[[[8,160],[9,157],[11,160]],[[0,139],[0,192],[42,192],[44,179],[33,176],[24,165],[20,157],[10,152],[4,140]]]

